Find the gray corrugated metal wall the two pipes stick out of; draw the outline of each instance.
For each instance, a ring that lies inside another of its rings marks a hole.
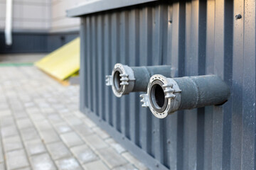
[[[255,1],[163,3],[82,17],[81,111],[151,169],[256,169]],[[116,98],[105,86],[117,62],[171,64],[174,77],[217,74],[232,94],[223,106],[160,120],[138,93]]]

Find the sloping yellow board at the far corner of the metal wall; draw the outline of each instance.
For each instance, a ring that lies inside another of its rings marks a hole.
[[[80,69],[80,38],[68,42],[35,64],[56,79],[67,79]]]

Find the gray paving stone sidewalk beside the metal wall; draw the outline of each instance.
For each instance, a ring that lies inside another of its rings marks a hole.
[[[78,110],[79,86],[0,67],[0,170],[146,169]]]

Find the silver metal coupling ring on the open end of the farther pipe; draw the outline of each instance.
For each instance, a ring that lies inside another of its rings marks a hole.
[[[134,88],[134,72],[131,67],[124,64],[114,64],[112,75],[107,76],[106,85],[112,86],[115,96],[122,97],[129,94]]]

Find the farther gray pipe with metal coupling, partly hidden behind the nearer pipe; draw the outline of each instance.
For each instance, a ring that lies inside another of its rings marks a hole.
[[[106,76],[106,85],[112,86],[115,96],[121,97],[135,91],[146,91],[149,79],[154,74],[171,77],[171,66],[129,67],[124,64],[114,64],[112,75]]]

